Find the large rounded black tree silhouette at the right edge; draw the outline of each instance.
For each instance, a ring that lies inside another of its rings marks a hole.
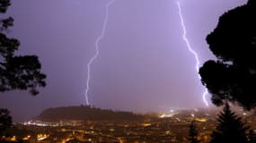
[[[228,100],[246,109],[256,106],[255,20],[255,0],[249,0],[224,13],[216,29],[207,35],[217,61],[204,63],[199,74],[215,105]]]

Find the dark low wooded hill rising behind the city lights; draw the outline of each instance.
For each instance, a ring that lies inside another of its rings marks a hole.
[[[112,111],[100,109],[89,105],[65,106],[44,110],[36,120],[44,122],[57,122],[60,120],[82,121],[136,121],[146,116],[131,112]]]

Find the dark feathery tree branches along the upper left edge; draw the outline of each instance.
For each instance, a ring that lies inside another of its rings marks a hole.
[[[0,13],[5,13],[10,0],[0,0]],[[40,72],[37,55],[14,55],[20,46],[19,40],[8,38],[6,31],[13,26],[13,18],[0,18],[0,92],[21,89],[39,93],[38,87],[46,86],[46,75]]]

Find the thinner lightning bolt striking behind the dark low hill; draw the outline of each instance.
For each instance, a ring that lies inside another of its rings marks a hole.
[[[95,55],[93,55],[93,57],[90,59],[89,63],[87,63],[87,80],[86,80],[86,88],[85,88],[85,92],[84,92],[84,97],[85,97],[86,105],[90,105],[89,98],[88,98],[88,91],[90,89],[91,65],[93,64],[95,59],[97,59],[97,57],[98,57],[98,55],[100,53],[99,44],[100,44],[102,38],[104,38],[106,29],[107,29],[107,23],[108,23],[108,20],[109,20],[109,7],[115,1],[116,0],[111,0],[109,3],[107,3],[105,5],[106,16],[105,16],[105,19],[104,19],[104,22],[103,22],[102,33],[101,33],[101,35],[98,38],[96,38],[96,41],[95,41],[95,51],[96,51]]]

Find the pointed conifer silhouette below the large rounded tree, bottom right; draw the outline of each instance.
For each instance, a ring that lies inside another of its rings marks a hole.
[[[231,111],[227,103],[218,115],[217,122],[210,143],[248,143],[246,133],[249,127],[245,126],[241,117]]]

